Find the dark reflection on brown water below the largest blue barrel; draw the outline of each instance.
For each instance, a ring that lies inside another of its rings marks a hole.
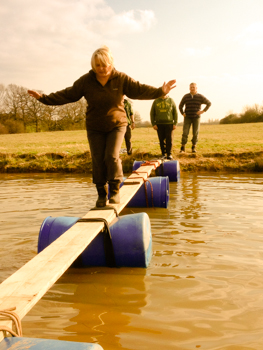
[[[69,326],[67,331],[75,331],[79,335],[79,325],[82,324],[83,341],[85,341],[87,329],[90,329],[92,339],[99,344],[105,344],[105,348],[112,345],[120,347],[120,331],[132,332],[130,315],[137,317],[146,305],[144,283],[146,270],[105,268],[98,272],[96,275],[88,275],[89,278],[85,283],[77,288],[74,300],[80,305],[79,314],[71,319],[76,322],[76,325]],[[104,274],[103,278],[100,276],[101,273]],[[87,298],[89,295],[93,296],[91,303]],[[86,310],[83,309],[83,305],[86,305]],[[87,319],[87,315],[93,317]]]

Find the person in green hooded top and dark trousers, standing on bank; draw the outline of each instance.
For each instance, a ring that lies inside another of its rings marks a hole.
[[[177,124],[177,110],[174,100],[168,95],[154,100],[150,112],[151,123],[157,131],[162,158],[172,160],[173,131]]]

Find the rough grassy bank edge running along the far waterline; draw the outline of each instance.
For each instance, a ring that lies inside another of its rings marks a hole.
[[[263,151],[243,153],[184,153],[173,154],[182,172],[263,172]],[[132,172],[135,160],[149,161],[159,154],[135,152],[121,154],[124,173]],[[0,154],[0,173],[92,173],[90,152],[79,154]]]

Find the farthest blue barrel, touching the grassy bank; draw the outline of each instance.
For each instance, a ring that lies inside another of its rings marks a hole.
[[[145,162],[135,160],[132,170],[139,169],[143,163]],[[156,168],[155,174],[157,176],[168,176],[171,182],[177,182],[180,179],[180,164],[177,160],[163,162],[158,168]]]

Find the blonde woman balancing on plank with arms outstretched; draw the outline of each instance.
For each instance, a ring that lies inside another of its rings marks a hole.
[[[96,206],[104,207],[107,203],[107,183],[110,187],[109,202],[120,203],[119,185],[123,172],[119,152],[127,126],[123,95],[139,100],[155,99],[173,89],[176,80],[164,83],[160,88],[140,84],[114,68],[113,56],[107,46],[93,53],[91,67],[88,73],[64,90],[49,95],[33,90],[28,90],[28,93],[46,105],[63,105],[85,97],[93,183],[99,195]]]

